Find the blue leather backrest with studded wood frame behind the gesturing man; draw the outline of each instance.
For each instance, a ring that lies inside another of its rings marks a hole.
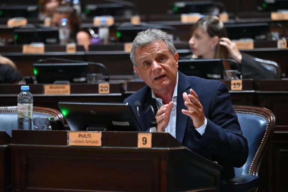
[[[258,175],[259,166],[275,128],[274,114],[263,107],[233,106],[243,136],[248,141],[249,155],[246,163],[235,168],[235,175]]]

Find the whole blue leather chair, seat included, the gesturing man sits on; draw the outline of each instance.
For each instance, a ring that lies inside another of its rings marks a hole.
[[[265,108],[234,106],[244,137],[248,141],[249,155],[246,163],[235,168],[235,177],[225,179],[221,192],[258,191],[258,171],[275,128],[274,114]]]

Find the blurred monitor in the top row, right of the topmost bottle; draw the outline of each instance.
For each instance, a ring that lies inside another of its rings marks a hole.
[[[87,16],[123,16],[127,8],[118,3],[106,3],[106,4],[87,4],[85,7],[85,14]]]

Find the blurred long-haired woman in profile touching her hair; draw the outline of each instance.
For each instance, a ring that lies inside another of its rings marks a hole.
[[[193,26],[189,40],[193,55],[189,58],[228,59],[232,58],[241,65],[243,79],[277,79],[274,72],[263,67],[250,55],[241,53],[236,44],[227,38],[226,28],[217,16],[204,16]],[[223,62],[224,69],[229,70],[229,62]]]

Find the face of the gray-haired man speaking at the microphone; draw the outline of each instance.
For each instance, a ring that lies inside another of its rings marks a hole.
[[[174,88],[177,79],[179,55],[172,55],[163,41],[156,41],[135,49],[139,77],[154,91]]]

